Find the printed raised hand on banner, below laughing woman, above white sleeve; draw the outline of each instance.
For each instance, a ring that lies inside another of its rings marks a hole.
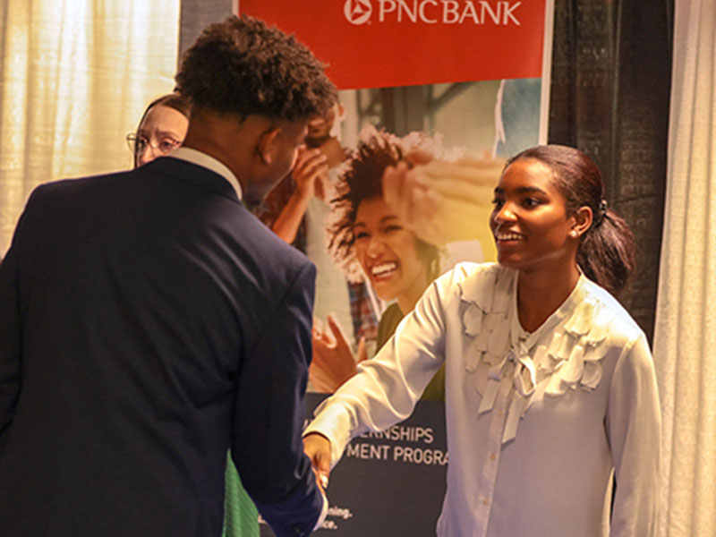
[[[333,315],[328,315],[328,329],[313,329],[313,359],[309,368],[309,379],[316,391],[332,394],[347,379],[355,374],[357,363],[368,357],[365,339],[358,342],[358,356]]]

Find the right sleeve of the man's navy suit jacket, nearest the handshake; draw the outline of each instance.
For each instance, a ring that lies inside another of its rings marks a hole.
[[[248,350],[236,391],[234,463],[277,537],[311,533],[324,501],[301,437],[315,276],[306,263]]]

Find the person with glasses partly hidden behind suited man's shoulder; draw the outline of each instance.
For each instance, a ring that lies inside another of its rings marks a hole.
[[[137,132],[127,134],[134,167],[164,157],[182,145],[189,127],[189,111],[189,103],[179,93],[168,93],[149,103]]]

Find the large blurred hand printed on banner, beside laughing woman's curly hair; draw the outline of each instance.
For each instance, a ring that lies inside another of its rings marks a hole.
[[[491,201],[504,159],[426,162],[424,155],[406,159],[383,174],[383,195],[397,217],[428,243],[478,239],[486,242],[483,250],[490,245]]]

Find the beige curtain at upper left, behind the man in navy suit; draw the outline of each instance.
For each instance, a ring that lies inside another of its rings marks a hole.
[[[171,91],[180,0],[0,0],[0,257],[39,183],[128,168]]]

